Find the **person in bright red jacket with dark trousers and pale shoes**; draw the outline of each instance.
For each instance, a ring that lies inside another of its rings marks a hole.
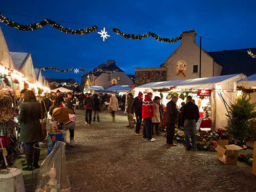
[[[147,139],[148,141],[156,141],[152,137],[151,127],[152,127],[152,117],[154,117],[154,105],[151,100],[153,97],[152,93],[148,93],[145,95],[145,99],[142,104],[142,119],[143,119],[143,139]]]

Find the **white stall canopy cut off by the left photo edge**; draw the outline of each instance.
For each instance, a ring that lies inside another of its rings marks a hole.
[[[13,60],[11,54],[9,52],[8,46],[6,44],[6,40],[3,34],[3,31],[0,27],[0,62],[3,66],[15,70],[13,65]]]

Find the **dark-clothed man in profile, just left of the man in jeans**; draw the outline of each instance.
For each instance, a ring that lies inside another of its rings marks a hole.
[[[167,103],[166,106],[166,143],[172,146],[176,146],[174,144],[174,131],[175,124],[178,122],[178,114],[179,111],[176,108],[176,103],[178,101],[178,97],[174,96],[172,100]]]

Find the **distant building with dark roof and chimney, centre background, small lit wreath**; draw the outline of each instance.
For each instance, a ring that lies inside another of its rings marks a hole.
[[[104,72],[113,72],[113,74],[105,74],[101,71],[96,72],[101,69]],[[83,75],[81,77],[81,86],[84,87],[87,79],[89,78],[92,86],[102,86],[104,89],[108,89],[113,85],[130,85],[134,84],[134,75],[126,75],[123,70],[116,66],[116,61],[107,60],[106,64],[101,64],[98,68],[95,68],[89,75]]]

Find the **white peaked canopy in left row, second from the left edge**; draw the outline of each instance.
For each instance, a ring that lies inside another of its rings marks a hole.
[[[37,82],[31,53],[10,52],[14,67],[33,83]]]

